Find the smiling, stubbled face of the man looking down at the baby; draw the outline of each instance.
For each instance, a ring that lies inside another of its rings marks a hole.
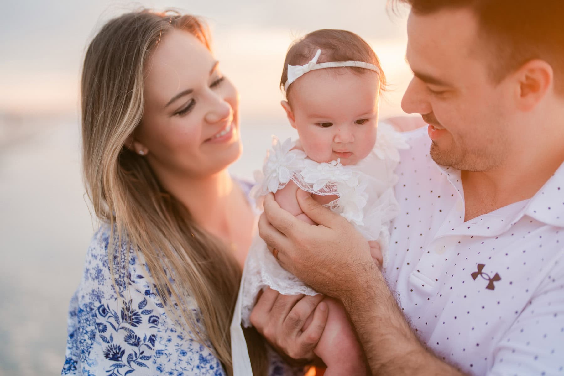
[[[466,171],[500,167],[514,146],[514,88],[490,76],[493,56],[471,11],[413,12],[407,60],[414,77],[403,96],[407,113],[429,124],[431,157]]]

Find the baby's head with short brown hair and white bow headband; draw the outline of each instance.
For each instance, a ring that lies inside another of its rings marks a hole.
[[[321,55],[317,64],[332,61],[367,64],[365,68],[310,70],[295,81],[290,80],[288,86],[288,65],[308,64],[318,50]],[[282,101],[282,107],[298,131],[307,156],[316,162],[341,158],[343,165],[354,165],[368,156],[376,142],[378,96],[385,83],[378,57],[355,33],[323,29],[294,42],[280,79],[287,98]]]

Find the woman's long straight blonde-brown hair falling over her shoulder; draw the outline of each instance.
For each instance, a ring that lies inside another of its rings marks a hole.
[[[108,21],[90,43],[81,83],[84,178],[96,216],[110,225],[110,239],[116,233],[143,254],[170,320],[180,315],[195,339],[204,346],[209,339],[210,350],[232,374],[229,327],[240,267],[228,247],[166,192],[146,159],[125,145],[142,121],[145,64],[171,29],[190,32],[210,49],[200,19],[171,11],[124,14]],[[110,260],[120,257],[112,242],[108,254]],[[111,273],[118,271],[111,267]],[[190,299],[200,309],[205,334],[187,304]],[[256,332],[249,335],[253,369],[264,374],[264,344]]]

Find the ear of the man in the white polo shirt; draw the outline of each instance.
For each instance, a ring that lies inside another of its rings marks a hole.
[[[554,86],[554,71],[544,60],[528,61],[514,73],[518,82],[517,107],[531,111]]]

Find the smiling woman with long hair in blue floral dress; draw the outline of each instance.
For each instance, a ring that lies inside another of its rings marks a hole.
[[[86,52],[83,169],[102,225],[70,302],[63,374],[232,372],[255,213],[227,172],[239,101],[209,46],[195,17],[141,11],[109,21]],[[249,335],[254,374],[303,373]]]

